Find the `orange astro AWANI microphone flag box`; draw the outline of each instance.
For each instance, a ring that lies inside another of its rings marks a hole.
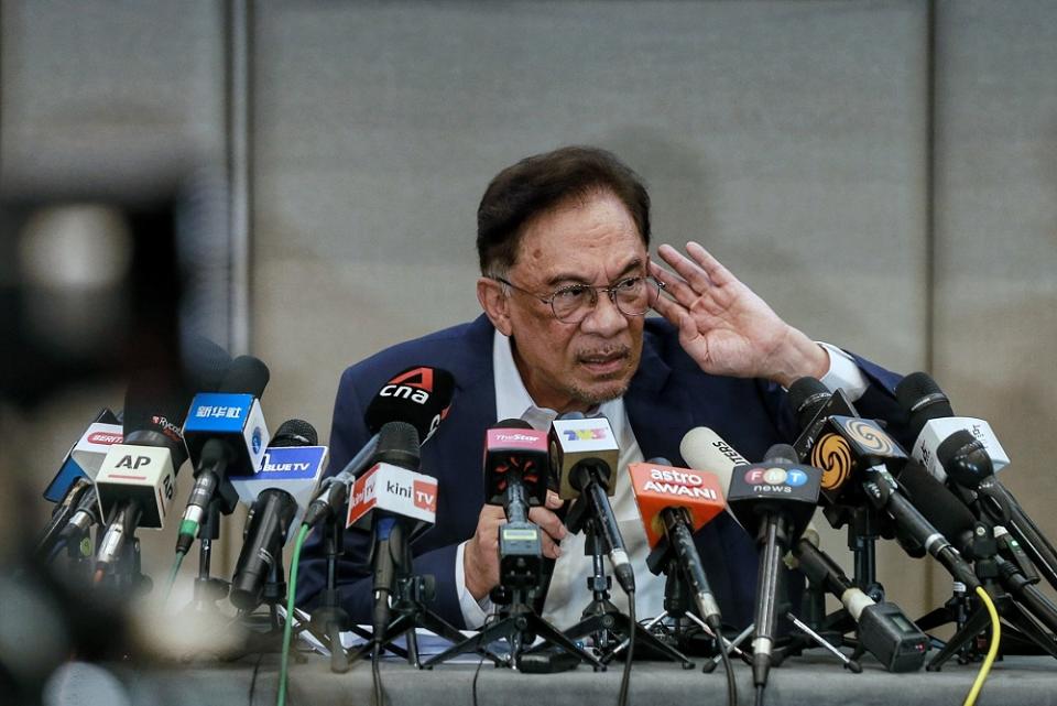
[[[649,463],[631,464],[628,473],[650,546],[664,536],[661,511],[665,508],[685,508],[690,530],[696,531],[727,506],[716,474]]]

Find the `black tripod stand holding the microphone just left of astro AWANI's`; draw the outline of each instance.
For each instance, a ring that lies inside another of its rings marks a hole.
[[[588,503],[584,500],[574,503],[566,518],[566,526],[574,534],[584,530],[585,554],[591,556],[593,574],[587,578],[592,600],[580,613],[580,621],[565,631],[569,640],[579,640],[588,634],[595,638],[595,649],[602,655],[602,664],[609,664],[634,637],[635,643],[646,645],[661,656],[673,662],[679,662],[684,670],[694,669],[694,663],[685,654],[671,644],[660,640],[649,629],[633,623],[631,618],[621,612],[609,599],[609,589],[612,587],[612,577],[607,576],[602,560],[601,530],[598,519],[588,512]],[[612,647],[611,647],[612,645]],[[537,651],[538,648],[532,650]]]

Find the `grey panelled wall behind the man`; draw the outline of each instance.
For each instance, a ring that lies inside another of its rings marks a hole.
[[[6,2],[0,139],[30,171],[74,137],[156,130],[221,159],[248,139],[249,351],[273,423],[325,437],[345,366],[475,316],[488,180],[593,143],[649,182],[657,242],[700,239],[809,335],[927,369],[991,420],[1057,537],[1057,6],[937,2],[931,24],[919,0],[232,7]],[[225,118],[242,106],[244,133]],[[90,413],[52,409],[26,423],[53,452],[41,486]],[[912,613],[949,590],[894,546],[881,578]]]

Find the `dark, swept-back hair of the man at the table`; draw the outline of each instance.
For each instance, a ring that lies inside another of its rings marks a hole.
[[[631,214],[650,246],[650,194],[642,180],[612,152],[566,146],[525,158],[495,175],[477,208],[477,254],[481,274],[514,264],[524,227],[570,199],[610,192]]]

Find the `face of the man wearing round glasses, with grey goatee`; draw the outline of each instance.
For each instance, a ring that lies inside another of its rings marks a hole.
[[[647,258],[626,207],[602,192],[530,221],[506,279],[549,296],[569,284],[609,286],[645,276]],[[516,290],[505,305],[514,361],[536,404],[587,411],[626,391],[642,355],[643,316],[625,316],[606,294],[577,324],[557,321],[547,304]]]

